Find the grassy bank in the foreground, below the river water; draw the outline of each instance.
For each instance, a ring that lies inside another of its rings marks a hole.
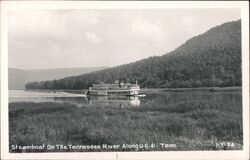
[[[225,103],[184,101],[137,108],[10,103],[10,146],[35,144],[175,144],[143,150],[242,149],[242,109]],[[234,146],[218,145],[233,143]],[[134,151],[134,149],[118,149]],[[111,150],[111,151],[118,151]],[[37,152],[65,151],[26,150]],[[67,150],[82,151],[82,150]],[[110,151],[109,149],[84,151]],[[10,152],[22,152],[13,150]]]

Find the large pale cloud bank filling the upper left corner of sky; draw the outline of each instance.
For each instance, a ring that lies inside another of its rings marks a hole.
[[[100,22],[99,13],[92,10],[24,10],[9,15],[9,33],[15,39],[79,41],[79,33]]]

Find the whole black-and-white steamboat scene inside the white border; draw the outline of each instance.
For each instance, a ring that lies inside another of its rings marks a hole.
[[[249,147],[242,8],[7,13],[1,109],[8,154],[243,153]]]

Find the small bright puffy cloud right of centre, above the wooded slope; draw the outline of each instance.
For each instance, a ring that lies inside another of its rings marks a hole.
[[[136,17],[131,20],[132,32],[141,36],[161,40],[165,38],[165,33],[158,20],[150,21],[142,17]]]

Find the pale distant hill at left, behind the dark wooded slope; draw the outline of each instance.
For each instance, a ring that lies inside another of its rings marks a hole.
[[[39,70],[21,70],[9,68],[9,89],[24,89],[25,84],[28,82],[61,79],[67,76],[81,75],[105,68],[107,67],[58,68]]]

